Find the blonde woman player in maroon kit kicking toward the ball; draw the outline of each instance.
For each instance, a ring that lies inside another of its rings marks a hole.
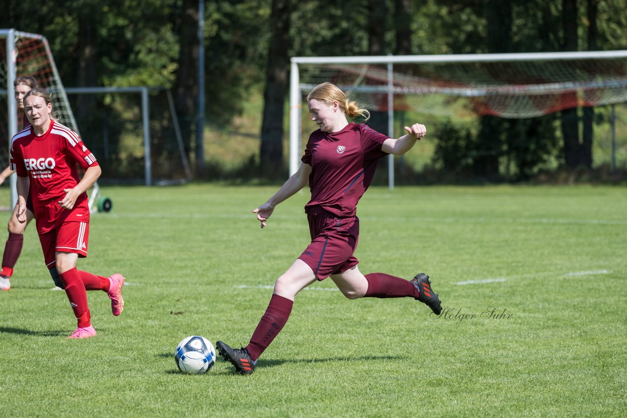
[[[218,353],[238,373],[251,374],[257,359],[282,330],[292,312],[293,300],[303,288],[330,277],[349,299],[411,297],[440,314],[440,299],[431,290],[429,276],[417,274],[411,281],[386,273],[359,271],[354,252],[359,239],[357,202],[372,182],[377,160],[388,154],[403,155],[424,137],[424,125],[414,123],[398,139],[388,138],[347,117],[369,117],[369,112],[349,102],[332,83],[322,83],[307,96],[312,120],[319,126],[307,142],[298,171],[269,201],[253,210],[261,227],[275,207],[305,185],[311,200],[305,205],[311,244],[275,283],[270,305],[261,316],[250,343],[231,348],[216,342]]]

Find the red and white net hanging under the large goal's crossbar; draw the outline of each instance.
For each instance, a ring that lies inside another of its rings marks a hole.
[[[331,81],[369,110],[388,110],[386,64],[298,66],[303,92]],[[403,63],[391,80],[395,111],[530,118],[627,102],[627,57]]]

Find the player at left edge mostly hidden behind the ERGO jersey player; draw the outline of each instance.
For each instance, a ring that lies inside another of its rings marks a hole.
[[[22,115],[22,126],[20,129],[28,128],[31,123],[26,118],[24,113],[24,95],[37,86],[37,80],[31,76],[21,76],[13,81],[15,88],[15,100],[18,102],[18,113]],[[19,115],[18,115],[19,116]],[[6,167],[3,172],[0,173],[0,184],[4,183],[4,180],[8,179],[14,170],[11,170],[11,166]],[[18,222],[16,213],[18,211],[18,205],[16,204],[13,209],[13,214],[9,218],[9,224],[7,229],[9,230],[9,238],[4,244],[4,253],[2,259],[2,270],[0,270],[0,290],[9,290],[11,288],[11,281],[9,280],[13,275],[13,267],[18,262],[19,254],[22,252],[22,246],[24,244],[24,230],[26,226],[33,220],[33,203],[28,199],[26,202],[26,222],[23,224]],[[53,274],[53,273],[51,273]],[[56,281],[55,281],[56,283]],[[58,285],[57,285],[58,286]]]

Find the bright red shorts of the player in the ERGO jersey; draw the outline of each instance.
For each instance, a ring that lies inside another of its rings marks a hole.
[[[89,222],[65,222],[61,226],[40,234],[41,249],[46,267],[55,266],[56,253],[76,253],[87,257]]]

